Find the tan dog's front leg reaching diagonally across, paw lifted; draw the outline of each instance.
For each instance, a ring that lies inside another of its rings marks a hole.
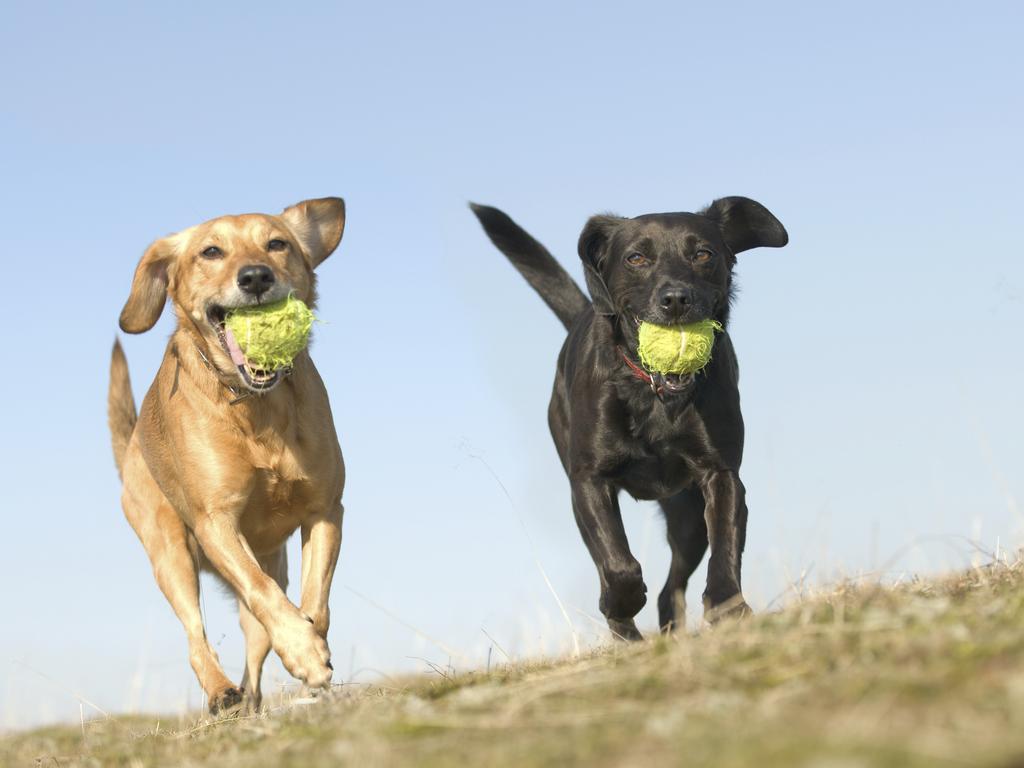
[[[237,520],[228,514],[207,514],[196,521],[194,530],[207,558],[266,628],[285,669],[312,688],[327,686],[331,682],[327,642],[259,566]]]

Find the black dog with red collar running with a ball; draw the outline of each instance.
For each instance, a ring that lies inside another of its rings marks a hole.
[[[548,409],[572,511],[601,578],[611,631],[639,639],[633,617],[647,602],[630,552],[618,492],[657,500],[672,567],[658,596],[663,630],[685,618],[683,595],[711,544],[703,593],[709,621],[750,611],[739,585],[746,503],[739,480],[743,420],[729,335],[718,335],[700,373],[651,374],[636,358],[640,322],[713,318],[727,326],[736,254],[779,248],[782,224],[746,198],[716,200],[700,213],[633,219],[595,216],[580,236],[592,302],[540,243],[496,208],[472,205],[490,241],[568,330]]]

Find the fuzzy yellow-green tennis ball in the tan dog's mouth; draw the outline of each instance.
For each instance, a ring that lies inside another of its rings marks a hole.
[[[253,368],[276,371],[292,365],[309,343],[313,313],[289,296],[272,304],[232,309],[224,325]]]

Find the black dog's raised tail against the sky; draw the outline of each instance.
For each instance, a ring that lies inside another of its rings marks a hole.
[[[587,294],[569,276],[547,248],[497,208],[470,203],[476,218],[490,242],[504,253],[516,269],[541,294],[544,303],[568,329],[580,313],[590,306]]]

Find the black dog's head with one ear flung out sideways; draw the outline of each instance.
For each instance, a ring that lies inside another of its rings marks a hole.
[[[736,254],[787,242],[763,205],[722,198],[699,213],[594,216],[580,236],[580,258],[595,311],[617,315],[626,341],[635,341],[641,322],[724,325]]]

